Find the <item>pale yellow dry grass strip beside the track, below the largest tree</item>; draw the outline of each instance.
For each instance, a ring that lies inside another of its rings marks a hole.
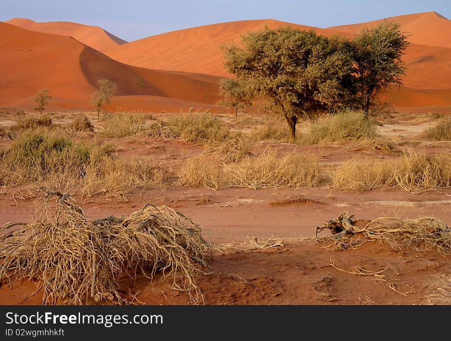
[[[222,167],[221,167],[222,166]],[[318,159],[314,155],[289,154],[278,157],[274,152],[246,156],[234,164],[204,156],[190,159],[181,169],[178,186],[257,188],[314,187],[321,182]]]

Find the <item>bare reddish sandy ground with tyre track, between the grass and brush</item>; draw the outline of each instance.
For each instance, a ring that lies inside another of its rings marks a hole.
[[[383,136],[398,138],[416,150],[451,151],[451,143],[427,143],[419,139],[419,134],[433,124],[431,119],[423,117],[385,124],[378,129]],[[199,154],[202,150],[195,144],[145,137],[115,139],[114,143],[118,146],[119,156],[152,155],[168,163]],[[3,141],[0,147],[8,144],[10,142]],[[268,146],[279,153],[312,152],[320,157],[324,167],[334,167],[348,158],[367,155],[394,157],[377,148],[355,144],[296,146],[271,143]],[[38,195],[15,192],[0,196],[0,224],[32,219]],[[283,247],[218,252],[211,269],[207,269],[214,273],[199,279],[206,304],[451,304],[451,256],[434,252],[398,252],[376,242],[367,243],[358,250],[332,251],[311,239],[316,226],[344,211],[362,219],[434,216],[449,223],[451,189],[410,193],[379,188],[346,193],[327,186],[298,190],[228,188],[218,191],[169,187],[141,191],[129,196],[127,201],[98,196],[76,196],[75,199],[91,218],[129,214],[145,203],[167,205],[201,224],[203,236],[214,244],[238,245],[254,237],[260,241],[285,240]],[[359,276],[349,273],[355,271],[355,266],[374,272],[385,270],[383,277]],[[133,295],[136,302],[145,304],[190,303],[186,295],[172,291],[168,280],[160,280],[158,276],[152,283],[145,277],[138,277],[134,282],[124,279],[120,288],[125,296]],[[0,286],[0,303],[40,304],[42,296],[40,292],[33,295],[35,291],[36,284],[28,280],[11,284],[4,280]]]

